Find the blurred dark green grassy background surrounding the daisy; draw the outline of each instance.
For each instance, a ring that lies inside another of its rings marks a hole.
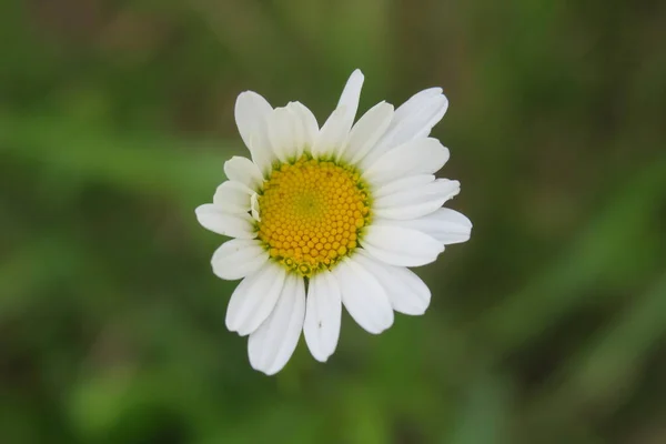
[[[0,443],[666,443],[666,2],[0,1]],[[472,240],[266,377],[195,221],[252,89],[442,85]]]

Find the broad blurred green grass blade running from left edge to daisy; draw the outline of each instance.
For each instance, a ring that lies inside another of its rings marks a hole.
[[[139,194],[188,202],[212,195],[223,179],[229,143],[162,134],[113,133],[57,117],[0,114],[0,153],[44,164],[69,176]],[[215,153],[216,152],[216,153]]]

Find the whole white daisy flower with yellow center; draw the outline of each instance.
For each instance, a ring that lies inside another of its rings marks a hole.
[[[423,314],[431,292],[407,266],[470,239],[470,220],[442,208],[460,183],[434,175],[448,160],[428,138],[448,105],[442,90],[396,110],[381,102],[353,124],[363,80],[352,73],[321,128],[302,103],[273,109],[241,93],[235,120],[252,160],[229,160],[229,180],[196,209],[204,228],[234,238],[213,254],[213,272],[242,279],[226,326],[250,336],[250,364],[266,374],[286,364],[301,331],[326,361],[342,305],[373,334],[393,324],[393,311]]]

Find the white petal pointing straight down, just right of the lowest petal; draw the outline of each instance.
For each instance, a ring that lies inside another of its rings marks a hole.
[[[340,286],[333,274],[322,271],[312,276],[307,287],[303,333],[315,360],[326,362],[335,351],[341,314]]]

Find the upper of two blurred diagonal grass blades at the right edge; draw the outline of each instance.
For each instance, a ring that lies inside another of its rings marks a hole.
[[[480,320],[503,355],[587,303],[581,294],[626,260],[666,199],[666,158],[658,159],[620,190],[563,259]]]

